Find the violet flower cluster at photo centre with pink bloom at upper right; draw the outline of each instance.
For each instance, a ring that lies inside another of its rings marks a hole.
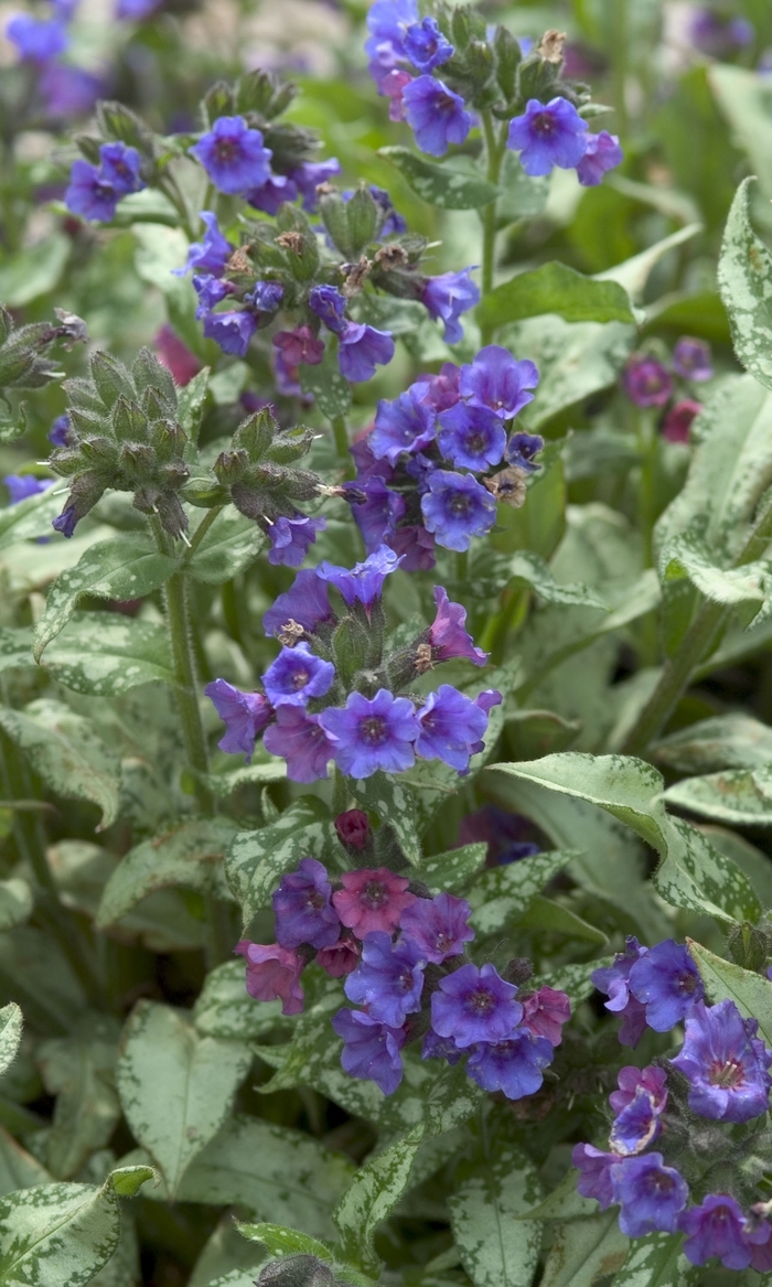
[[[308,541],[301,523],[295,539]],[[502,695],[489,689],[472,699],[449,683],[427,696],[410,692],[416,677],[439,662],[467,658],[484,665],[488,655],[475,647],[464,609],[449,602],[443,587],[435,587],[432,625],[409,647],[385,653],[381,592],[400,562],[382,546],[353,569],[324,561],[297,574],[262,618],[265,632],[282,644],[262,691],[242,692],[225,680],[205,689],[225,721],[221,750],[243,752],[248,762],[262,735],[265,749],[287,761],[296,782],[327,777],[331,761],[355,779],[404,772],[417,757],[468,772]],[[349,609],[342,620],[329,586]]]

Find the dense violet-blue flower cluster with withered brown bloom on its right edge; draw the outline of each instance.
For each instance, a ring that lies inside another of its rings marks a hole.
[[[534,398],[539,372],[488,345],[473,362],[445,363],[394,402],[380,402],[374,426],[351,447],[353,505],[365,548],[387,544],[405,570],[428,569],[435,543],[464,551],[495,523],[497,501],[520,506],[543,439],[512,431]]]

